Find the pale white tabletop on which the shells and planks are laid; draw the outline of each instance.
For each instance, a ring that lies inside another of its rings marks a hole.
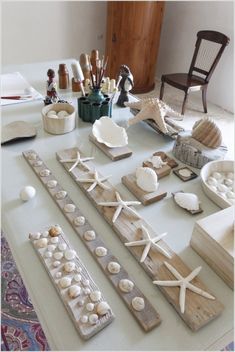
[[[21,66],[8,66],[3,73],[19,71],[40,93],[45,95],[46,72],[59,63],[65,62],[70,69],[70,60],[35,63]],[[70,90],[63,96],[72,101],[77,108],[77,93]],[[156,134],[144,123],[128,129],[129,147],[133,150],[130,158],[112,162],[89,140],[92,125],[77,120],[76,129],[66,135],[50,135],[43,130],[41,109],[42,101],[5,106],[2,108],[2,125],[12,121],[24,120],[35,125],[37,137],[32,140],[2,147],[2,229],[9,241],[13,256],[22,275],[32,303],[38,314],[49,345],[52,350],[205,350],[233,328],[233,291],[210,269],[210,267],[189,246],[194,222],[220,209],[203,193],[200,178],[183,183],[174,174],[161,180],[168,191],[164,200],[139,206],[139,213],[156,231],[167,231],[167,244],[180,255],[190,268],[202,265],[199,274],[212,293],[224,304],[222,315],[197,332],[192,332],[167,302],[158,288],[154,286],[134,257],[123,246],[118,236],[96,211],[88,198],[82,193],[63,167],[56,161],[55,153],[61,149],[78,146],[87,155],[95,156],[95,164],[102,174],[112,174],[111,182],[122,195],[129,199],[134,196],[121,184],[121,177],[131,173],[142,161],[157,150],[169,152],[173,141]],[[127,108],[113,107],[113,119],[125,125],[132,116]],[[143,332],[134,317],[123,304],[95,260],[87,251],[72,227],[66,221],[56,204],[36,178],[22,157],[22,151],[34,149],[55,174],[75,204],[82,210],[88,221],[100,234],[113,254],[136,281],[139,288],[160,313],[162,323],[149,333]],[[197,170],[197,173],[199,171]],[[25,185],[32,185],[37,196],[26,203],[19,199],[19,191]],[[191,216],[177,207],[170,194],[184,190],[195,192],[204,212]],[[49,224],[59,223],[75,247],[91,275],[102,289],[113,308],[116,319],[108,327],[84,342],[75,330],[56,290],[36,257],[28,241],[28,234],[40,231]],[[186,303],[187,306],[187,303]]]

